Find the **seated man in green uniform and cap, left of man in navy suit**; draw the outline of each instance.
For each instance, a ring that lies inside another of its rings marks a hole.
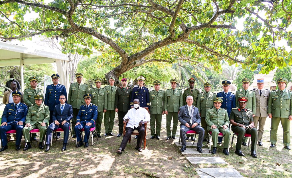
[[[25,127],[22,129],[24,139],[26,142],[23,151],[32,148],[29,142],[29,131],[32,129],[39,129],[39,149],[44,149],[43,141],[46,135],[47,124],[50,119],[50,109],[48,106],[42,104],[44,96],[34,95],[36,104],[29,107],[27,116],[25,119]]]

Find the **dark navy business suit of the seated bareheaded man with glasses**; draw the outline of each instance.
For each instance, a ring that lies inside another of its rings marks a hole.
[[[51,142],[52,132],[55,129],[63,129],[64,130],[64,143],[68,142],[69,137],[69,127],[70,127],[70,120],[73,118],[73,109],[72,105],[65,104],[63,112],[61,114],[61,104],[55,106],[53,111],[52,119],[53,122],[47,128],[47,140],[46,145],[49,145]],[[57,126],[55,121],[58,121],[60,124]],[[61,124],[62,121],[67,121],[65,124]]]

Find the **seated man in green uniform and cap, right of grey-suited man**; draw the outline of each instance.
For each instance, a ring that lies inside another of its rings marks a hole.
[[[214,107],[207,110],[206,114],[206,123],[208,131],[212,132],[213,140],[213,150],[212,154],[217,152],[217,142],[219,132],[223,134],[224,137],[224,146],[223,153],[229,155],[229,140],[230,140],[230,131],[228,129],[230,121],[226,109],[221,108],[221,103],[223,100],[220,97],[214,97],[213,103]]]

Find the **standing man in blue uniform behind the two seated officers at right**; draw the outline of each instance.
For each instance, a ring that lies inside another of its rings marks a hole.
[[[230,84],[231,82],[228,80],[222,81],[223,91],[216,95],[216,97],[220,97],[223,100],[221,108],[227,110],[228,117],[230,116],[231,109],[236,107],[235,95],[229,91]],[[230,127],[230,125],[228,127]],[[218,137],[218,144],[222,143],[222,139],[223,137]]]

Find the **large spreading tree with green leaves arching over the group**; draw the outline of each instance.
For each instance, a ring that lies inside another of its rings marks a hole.
[[[27,13],[36,13],[31,20]],[[3,41],[45,35],[63,38],[62,52],[89,56],[113,66],[105,78],[142,64],[178,60],[221,70],[220,61],[262,73],[292,64],[291,1],[274,0],[2,0]],[[237,18],[244,29],[236,30]]]

